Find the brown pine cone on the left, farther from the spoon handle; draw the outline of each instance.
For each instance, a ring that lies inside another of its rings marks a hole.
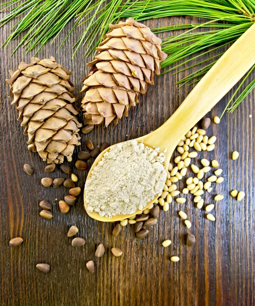
[[[25,127],[28,149],[37,151],[48,163],[62,163],[64,156],[70,159],[75,145],[80,145],[81,127],[72,105],[76,98],[71,93],[74,85],[68,80],[71,71],[51,57],[32,58],[31,64],[21,62],[10,74],[6,83],[10,85],[11,104]]]

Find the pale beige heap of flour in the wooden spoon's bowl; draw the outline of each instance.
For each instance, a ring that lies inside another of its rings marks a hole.
[[[101,217],[142,210],[166,182],[165,155],[158,151],[136,140],[113,146],[86,181],[87,210]]]

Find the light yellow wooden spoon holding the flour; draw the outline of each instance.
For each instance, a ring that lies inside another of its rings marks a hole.
[[[138,142],[155,148],[158,146],[163,152],[167,148],[165,168],[168,165],[180,139],[185,135],[204,115],[206,115],[220,99],[243,77],[243,75],[255,64],[255,24],[253,24],[216,62],[216,64],[204,75],[202,80],[182,102],[175,113],[154,132],[139,137]],[[106,148],[92,164],[87,179],[91,176],[93,168],[102,159]],[[149,207],[157,196],[149,203]],[[131,215],[117,215],[111,218],[100,217],[96,212],[87,211],[86,195],[84,192],[84,207],[87,214],[96,220],[113,222],[126,219]]]

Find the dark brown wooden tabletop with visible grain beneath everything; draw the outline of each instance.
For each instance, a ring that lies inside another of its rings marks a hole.
[[[3,15],[2,15],[3,16]],[[1,16],[0,16],[1,17]],[[196,18],[171,18],[150,20],[150,27],[169,23],[197,22]],[[3,42],[13,22],[1,29]],[[82,87],[82,79],[88,69],[80,49],[71,60],[72,44],[82,32],[81,27],[58,50],[72,23],[54,41],[39,52],[40,58],[55,56],[64,67],[73,71],[72,80],[76,94]],[[164,34],[166,35],[166,34]],[[63,215],[57,207],[57,199],[63,199],[67,190],[43,188],[40,179],[45,176],[45,164],[38,155],[31,154],[25,145],[26,137],[16,121],[16,111],[10,105],[5,79],[8,70],[14,69],[21,60],[29,61],[32,53],[24,50],[10,57],[17,41],[6,49],[0,49],[1,63],[1,163],[2,177],[0,204],[0,304],[1,305],[254,305],[254,91],[234,114],[227,114],[219,125],[212,124],[208,135],[216,135],[216,149],[203,156],[220,162],[224,183],[217,185],[213,194],[224,194],[224,200],[216,203],[216,222],[205,219],[204,211],[194,208],[191,197],[188,204],[174,202],[169,212],[160,211],[158,224],[150,230],[144,241],[134,238],[131,226],[124,228],[117,238],[111,235],[112,223],[100,223],[89,218],[82,204],[82,196],[68,214]],[[221,51],[219,51],[221,52]],[[215,55],[212,53],[211,56]],[[190,70],[189,72],[192,72]],[[188,86],[178,89],[175,82],[181,75],[170,73],[156,78],[146,95],[140,96],[140,104],[130,116],[117,126],[98,127],[89,135],[82,135],[82,145],[89,137],[96,144],[107,141],[111,144],[149,133],[162,124],[181,104],[191,90]],[[249,80],[254,77],[250,75]],[[246,81],[248,82],[248,80]],[[230,93],[209,114],[221,114]],[[79,103],[77,103],[79,104]],[[253,115],[249,118],[249,115]],[[81,116],[80,116],[81,119]],[[237,161],[230,159],[233,150],[240,152]],[[199,159],[202,154],[199,154]],[[91,163],[92,161],[90,161]],[[34,166],[35,173],[28,176],[22,170],[25,164]],[[86,172],[72,169],[79,177],[79,185],[85,183]],[[51,177],[66,177],[58,169]],[[183,183],[181,183],[183,185]],[[182,188],[182,185],[179,187]],[[230,197],[232,189],[243,190],[246,197],[237,202]],[[53,204],[53,219],[39,216],[39,201],[49,200]],[[205,202],[212,202],[206,194]],[[185,209],[192,220],[191,230],[177,217]],[[76,225],[79,236],[86,240],[82,248],[73,248],[66,236],[69,226]],[[185,237],[190,232],[196,236],[196,245],[188,248]],[[9,247],[9,240],[21,236],[24,243],[16,248]],[[163,248],[160,243],[171,239],[172,245]],[[96,259],[96,246],[106,247],[104,257]],[[123,250],[120,258],[114,258],[110,248]],[[180,261],[172,263],[170,257],[178,255]],[[85,263],[95,260],[96,272],[89,274]],[[44,274],[36,269],[37,263],[48,263],[51,271]]]

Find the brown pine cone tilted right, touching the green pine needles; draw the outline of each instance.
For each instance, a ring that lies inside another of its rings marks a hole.
[[[160,73],[160,61],[167,57],[161,51],[161,39],[144,24],[128,18],[109,27],[83,80],[86,124],[105,122],[107,126],[128,116],[130,107],[138,103],[138,94],[146,93],[147,84],[154,84],[154,72]]]

